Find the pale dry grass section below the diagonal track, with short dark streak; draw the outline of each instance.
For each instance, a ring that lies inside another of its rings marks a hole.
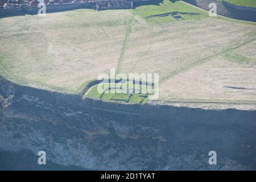
[[[214,57],[170,78],[159,92],[159,100],[256,102],[256,65]]]

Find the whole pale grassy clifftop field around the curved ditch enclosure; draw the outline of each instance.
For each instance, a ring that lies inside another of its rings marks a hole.
[[[0,23],[1,74],[19,84],[78,93],[115,68],[159,73],[160,101],[256,102],[255,23],[168,0]]]

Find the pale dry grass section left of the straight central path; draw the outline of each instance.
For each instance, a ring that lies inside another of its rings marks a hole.
[[[130,13],[75,12],[1,19],[16,23],[1,28],[3,67],[11,76],[71,90],[117,67]]]

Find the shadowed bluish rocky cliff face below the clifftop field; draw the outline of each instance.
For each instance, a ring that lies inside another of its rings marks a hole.
[[[0,169],[256,169],[255,129],[256,111],[121,105],[0,79]]]

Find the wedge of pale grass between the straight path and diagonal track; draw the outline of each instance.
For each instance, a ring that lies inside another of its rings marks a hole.
[[[225,52],[253,38],[256,38],[255,26],[219,19],[157,24],[154,27],[141,27],[134,22],[121,72],[150,71],[160,73],[163,80],[185,65]]]

